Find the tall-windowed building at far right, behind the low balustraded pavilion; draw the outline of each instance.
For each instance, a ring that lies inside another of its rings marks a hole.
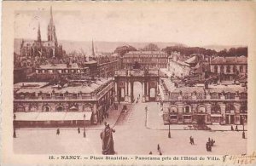
[[[216,57],[210,62],[211,72],[217,73],[220,81],[247,77],[247,57]]]

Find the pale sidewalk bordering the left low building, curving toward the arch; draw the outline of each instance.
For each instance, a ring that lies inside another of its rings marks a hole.
[[[103,122],[106,122],[109,124],[109,126],[111,128],[113,128],[116,124],[116,122],[118,121],[119,117],[122,115],[122,108],[123,106],[127,106],[128,109],[130,109],[130,104],[127,103],[120,103],[118,105],[118,110],[114,110],[114,107],[111,106],[108,110],[108,118],[105,118]],[[91,125],[87,125],[85,126],[86,130],[102,130],[104,129],[104,123],[98,123],[98,124],[91,124]],[[55,130],[56,128],[20,128],[17,130]],[[60,128],[61,130],[77,130],[77,127],[64,127],[64,128]]]

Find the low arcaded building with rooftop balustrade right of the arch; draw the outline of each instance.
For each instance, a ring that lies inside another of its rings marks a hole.
[[[247,88],[241,85],[177,87],[161,78],[159,89],[165,124],[247,122]]]

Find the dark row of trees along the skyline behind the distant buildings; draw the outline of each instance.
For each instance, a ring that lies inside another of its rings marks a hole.
[[[154,44],[149,43],[143,49],[139,49],[142,51],[160,51],[160,48]],[[186,47],[183,45],[176,45],[176,46],[168,46],[165,49],[161,49],[162,51],[166,52],[167,54],[171,54],[172,52],[176,51],[184,56],[189,56],[190,54],[207,54],[213,56],[247,56],[247,47],[239,47],[239,48],[231,48],[231,49],[223,49],[221,51],[216,51],[213,49],[205,49],[201,47]],[[114,53],[119,55],[124,55],[129,51],[137,51],[136,48],[127,45],[121,46],[114,50]]]

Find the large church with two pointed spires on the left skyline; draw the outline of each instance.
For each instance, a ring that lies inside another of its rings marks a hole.
[[[21,41],[20,56],[21,57],[46,57],[61,58],[63,54],[62,45],[58,44],[55,33],[55,25],[53,20],[52,8],[50,7],[50,20],[48,25],[47,41],[41,40],[40,24],[38,25],[38,40]]]

